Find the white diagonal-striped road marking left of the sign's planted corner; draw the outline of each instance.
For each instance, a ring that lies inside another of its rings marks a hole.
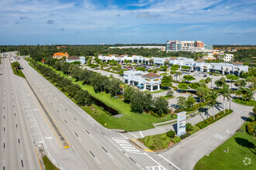
[[[137,148],[135,148],[134,145],[130,143],[126,138],[112,138],[118,145],[120,145],[123,149],[126,151],[133,153],[133,154],[144,154]]]

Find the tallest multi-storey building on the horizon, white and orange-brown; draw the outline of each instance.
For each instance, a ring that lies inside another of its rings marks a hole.
[[[175,51],[207,51],[206,49],[213,49],[213,45],[206,45],[202,41],[179,41],[168,40],[166,42],[166,52]]]

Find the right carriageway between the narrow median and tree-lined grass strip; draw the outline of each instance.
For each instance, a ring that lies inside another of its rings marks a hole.
[[[82,160],[83,169],[147,169],[154,166],[165,169],[150,155],[131,145],[128,138],[102,127],[29,66],[25,59],[20,59],[19,62],[31,87],[57,124],[68,145],[78,155],[79,160]]]

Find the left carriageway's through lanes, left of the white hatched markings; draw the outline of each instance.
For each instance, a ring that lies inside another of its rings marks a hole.
[[[0,167],[2,169],[40,169],[25,112],[18,97],[9,57],[2,59],[0,75]]]

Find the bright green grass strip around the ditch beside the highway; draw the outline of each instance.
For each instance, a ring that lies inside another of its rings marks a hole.
[[[42,64],[42,63],[41,63]],[[47,66],[43,64],[43,66]],[[47,66],[50,67],[50,66]],[[53,69],[52,67],[50,67]],[[54,69],[53,69],[54,70]],[[60,73],[61,76],[67,75],[61,73],[61,71],[54,70],[56,73]],[[176,116],[171,117],[168,114],[165,117],[157,118],[151,116],[150,114],[136,114],[130,111],[130,105],[124,103],[121,99],[115,99],[110,96],[109,93],[95,93],[92,86],[83,85],[81,81],[75,81],[71,79],[73,83],[76,83],[81,86],[83,90],[88,90],[88,93],[92,94],[92,97],[95,97],[98,100],[101,100],[104,104],[113,109],[117,110],[119,114],[123,114],[123,117],[111,117],[106,112],[104,112],[100,107],[92,104],[91,107],[81,107],[88,114],[90,114],[96,121],[100,124],[104,125],[106,128],[112,129],[123,129],[125,131],[142,131],[150,128],[154,128],[155,123],[160,123],[163,121],[170,121],[172,119],[177,118]],[[95,108],[93,111],[92,108]],[[106,125],[105,125],[106,124]]]

